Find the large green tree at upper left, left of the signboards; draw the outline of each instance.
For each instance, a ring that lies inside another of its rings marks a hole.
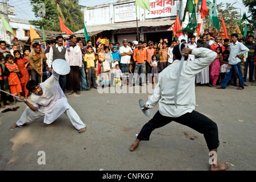
[[[83,28],[83,11],[78,0],[30,0],[33,5],[33,12],[37,20],[31,20],[30,23],[45,30],[61,31],[58,15],[61,16],[63,23],[71,31],[75,32]],[[38,11],[41,9],[39,3],[45,4],[45,13],[39,17]]]

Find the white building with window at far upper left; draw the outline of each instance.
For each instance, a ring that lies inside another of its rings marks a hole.
[[[3,15],[3,5],[0,5],[0,16]],[[15,18],[15,9],[14,6],[8,6],[8,16],[9,24],[13,28],[14,33],[16,34],[18,40],[26,41],[29,39],[30,26],[35,28],[35,26],[29,23],[29,20]],[[0,39],[5,40],[7,43],[11,44],[11,41],[14,39],[14,36],[9,37],[6,34],[6,31],[3,30],[2,20],[0,19]]]

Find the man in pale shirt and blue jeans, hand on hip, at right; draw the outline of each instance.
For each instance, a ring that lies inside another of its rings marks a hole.
[[[244,88],[241,59],[239,59],[239,56],[248,52],[249,48],[238,42],[237,39],[238,34],[231,35],[232,43],[230,44],[229,67],[227,67],[227,71],[225,73],[224,79],[221,82],[221,85],[217,86],[218,89],[226,88],[234,71],[235,73],[237,73],[239,80],[239,87],[237,88],[237,90],[243,90]]]

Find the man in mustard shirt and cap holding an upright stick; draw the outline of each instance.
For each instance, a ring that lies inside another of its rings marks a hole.
[[[29,64],[31,69],[31,80],[36,80],[41,83],[41,77],[43,76],[43,64],[42,61],[46,61],[45,49],[39,43],[32,45],[33,52],[29,53]],[[42,67],[42,69],[41,69]]]

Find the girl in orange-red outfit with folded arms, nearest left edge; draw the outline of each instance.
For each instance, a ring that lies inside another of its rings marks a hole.
[[[21,88],[21,81],[17,73],[19,73],[18,65],[13,63],[14,57],[13,55],[6,55],[5,57],[6,63],[5,66],[9,70],[10,75],[8,77],[8,84],[10,86],[10,92],[13,95],[21,96],[22,88]],[[16,104],[16,98],[14,98],[14,103]]]

